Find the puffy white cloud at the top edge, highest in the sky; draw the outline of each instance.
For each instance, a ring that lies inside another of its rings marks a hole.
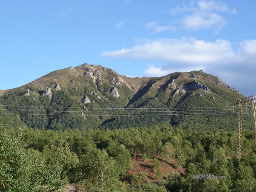
[[[194,5],[193,1],[191,1],[189,6],[183,5],[182,8],[176,7],[170,12],[171,14],[185,12],[187,15],[178,20],[177,23],[180,23],[181,28],[190,31],[210,28],[219,30],[227,24],[227,21],[221,15],[221,13],[237,13],[235,8],[231,10],[227,5],[225,5],[225,3],[216,2],[214,0],[200,0],[196,5]]]

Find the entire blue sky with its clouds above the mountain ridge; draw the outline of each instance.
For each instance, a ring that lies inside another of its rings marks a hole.
[[[256,88],[255,0],[0,0],[0,89],[85,62],[126,76],[202,69]]]

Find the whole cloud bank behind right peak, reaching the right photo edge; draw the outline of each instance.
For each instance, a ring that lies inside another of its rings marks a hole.
[[[234,47],[237,48],[234,48]],[[205,41],[183,37],[156,39],[132,48],[104,51],[111,58],[143,59],[164,62],[162,67],[151,65],[143,76],[163,76],[176,71],[200,70],[222,77],[229,85],[245,86],[244,79],[256,81],[256,40],[245,40],[234,45],[227,40]],[[243,82],[243,83],[241,83]],[[249,86],[249,85],[248,85]]]

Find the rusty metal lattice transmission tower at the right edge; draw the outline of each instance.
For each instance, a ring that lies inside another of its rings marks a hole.
[[[255,100],[256,96],[249,96],[245,97],[243,99],[237,100],[235,104],[239,104],[239,128],[238,128],[238,159],[241,158],[242,155],[242,103],[253,101],[253,120],[254,120],[254,131],[255,131],[255,141],[256,141],[256,105],[255,105]]]

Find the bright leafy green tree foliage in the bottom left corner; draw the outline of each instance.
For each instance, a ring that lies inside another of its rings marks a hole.
[[[36,150],[23,146],[23,130],[0,126],[0,191],[46,192],[63,188],[60,172],[48,165]]]

